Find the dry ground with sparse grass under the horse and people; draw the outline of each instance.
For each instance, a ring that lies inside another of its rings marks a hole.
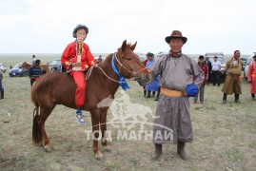
[[[13,61],[7,61],[7,64]],[[113,141],[111,152],[103,152],[101,161],[94,159],[90,116],[79,125],[74,109],[58,105],[46,123],[52,150],[46,153],[31,141],[33,104],[30,101],[29,77],[10,78],[4,74],[5,99],[0,100],[0,170],[255,170],[256,166],[256,102],[251,101],[249,85],[242,83],[242,104],[227,97],[222,104],[221,87],[207,85],[205,105],[190,104],[194,142],[187,143],[188,161],[176,155],[176,146],[164,144],[158,161],[150,156],[153,143],[117,141],[118,128],[108,125]],[[153,98],[143,97],[142,87],[128,82],[130,102],[143,104],[155,111]],[[118,90],[117,98],[121,97]],[[192,102],[192,99],[190,99]],[[108,113],[108,121],[112,118]],[[147,115],[148,122],[153,118]],[[139,126],[133,128],[139,130]],[[150,131],[152,126],[145,125]],[[101,145],[99,145],[101,148]]]

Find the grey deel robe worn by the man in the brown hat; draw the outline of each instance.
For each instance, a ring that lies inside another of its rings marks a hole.
[[[168,89],[184,91],[187,85],[194,83],[199,88],[204,81],[204,72],[187,55],[174,58],[163,56],[149,66],[153,78],[160,75],[159,85]],[[166,63],[167,62],[167,63]],[[166,63],[166,67],[165,67]],[[161,74],[163,68],[165,70]],[[153,126],[153,142],[192,142],[192,124],[188,97],[168,97],[161,94],[156,108]]]

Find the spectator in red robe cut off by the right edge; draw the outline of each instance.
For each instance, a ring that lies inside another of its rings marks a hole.
[[[256,94],[256,54],[254,54],[254,56],[252,58],[253,58],[253,61],[249,65],[247,79],[248,79],[248,83],[250,84],[249,91],[251,94],[251,98],[253,101],[255,101],[256,100],[255,99],[255,94]]]

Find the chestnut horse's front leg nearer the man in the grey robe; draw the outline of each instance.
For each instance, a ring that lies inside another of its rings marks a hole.
[[[111,149],[108,146],[108,132],[107,132],[107,113],[108,113],[108,108],[101,109],[101,114],[100,114],[100,123],[101,123],[101,133],[102,133],[102,146],[103,150],[110,152]]]

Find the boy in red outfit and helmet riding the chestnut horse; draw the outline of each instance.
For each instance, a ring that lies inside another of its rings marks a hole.
[[[61,57],[63,66],[73,77],[76,84],[75,105],[77,108],[75,116],[78,123],[85,123],[80,108],[84,104],[86,96],[84,71],[90,66],[95,65],[95,60],[89,50],[89,46],[84,43],[88,33],[89,28],[85,25],[77,25],[73,29],[73,37],[76,39],[65,48]]]

